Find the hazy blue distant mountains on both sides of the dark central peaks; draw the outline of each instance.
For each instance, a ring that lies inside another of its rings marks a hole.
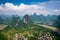
[[[18,15],[17,15],[18,16]],[[0,17],[2,17],[4,20],[6,20],[7,18],[11,19],[12,15],[0,15]],[[21,19],[23,19],[23,16],[19,16]],[[54,21],[57,19],[57,15],[37,15],[36,13],[34,13],[33,15],[30,15],[31,20],[34,23],[42,23],[42,24],[48,24],[48,25],[52,25],[54,23]]]

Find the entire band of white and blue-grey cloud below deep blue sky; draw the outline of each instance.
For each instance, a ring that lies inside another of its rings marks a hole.
[[[60,1],[48,1],[43,3],[37,3],[37,4],[24,4],[21,3],[20,5],[14,5],[12,3],[5,3],[0,5],[0,14],[17,14],[17,15],[25,15],[25,14],[33,14],[37,13],[39,14],[53,14],[53,15],[59,15],[60,14]],[[57,10],[56,10],[57,9]]]

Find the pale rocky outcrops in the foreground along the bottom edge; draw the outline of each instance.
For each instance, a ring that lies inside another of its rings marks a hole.
[[[34,36],[31,36],[32,38],[35,38]],[[53,36],[50,34],[46,34],[44,36],[41,37],[37,37],[38,40],[54,40]],[[15,34],[13,37],[13,40],[29,40],[28,38],[25,38],[24,34]]]

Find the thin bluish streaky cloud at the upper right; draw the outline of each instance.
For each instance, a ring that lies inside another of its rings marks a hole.
[[[46,7],[46,10],[49,12],[48,14],[60,15],[60,0],[50,0],[48,2],[37,4]]]

